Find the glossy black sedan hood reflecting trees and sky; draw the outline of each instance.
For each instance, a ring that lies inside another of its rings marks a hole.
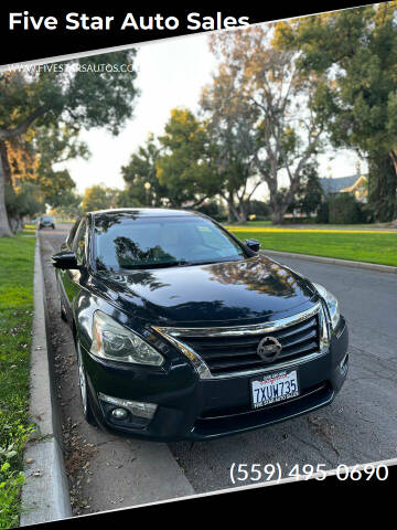
[[[316,301],[305,278],[265,256],[100,273],[95,284],[122,311],[160,326],[255,324],[283,318]]]

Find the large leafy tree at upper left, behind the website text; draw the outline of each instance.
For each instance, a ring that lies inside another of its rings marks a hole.
[[[111,64],[132,64],[136,52],[107,55]],[[54,71],[0,74],[0,145],[32,127],[55,123],[79,131],[106,127],[117,135],[132,115],[136,73],[100,71],[104,56],[58,63]],[[0,236],[11,235],[4,205],[4,168],[0,165]]]

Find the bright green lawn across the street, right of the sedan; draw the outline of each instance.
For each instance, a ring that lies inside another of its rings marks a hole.
[[[312,233],[304,230],[286,232],[234,231],[244,241],[260,241],[262,248],[315,256],[339,257],[358,262],[397,266],[397,232],[385,233]]]

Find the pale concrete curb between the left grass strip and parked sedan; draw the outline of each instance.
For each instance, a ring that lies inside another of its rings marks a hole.
[[[61,421],[53,395],[49,356],[43,272],[37,235],[34,254],[34,316],[32,329],[30,416],[37,437],[26,444],[25,483],[22,487],[20,526],[72,517],[68,483],[62,456]]]

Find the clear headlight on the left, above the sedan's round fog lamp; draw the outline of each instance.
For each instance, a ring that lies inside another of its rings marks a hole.
[[[161,367],[164,358],[136,333],[103,311],[95,311],[93,321],[94,356],[111,361]]]

